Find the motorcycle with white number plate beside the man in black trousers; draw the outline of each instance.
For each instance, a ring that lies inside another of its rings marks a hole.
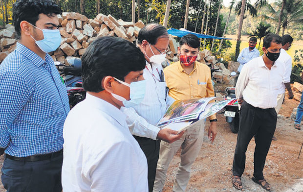
[[[235,75],[236,72],[231,72],[232,76]],[[236,93],[235,93],[236,88],[235,87],[227,87],[225,89],[225,95],[224,99],[231,99],[235,98],[232,101],[230,101],[226,106],[225,106],[225,120],[229,124],[229,128],[233,133],[238,133],[239,131],[239,108],[238,108],[238,101],[236,99]]]

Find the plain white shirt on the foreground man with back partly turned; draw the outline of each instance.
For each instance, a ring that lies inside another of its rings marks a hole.
[[[147,160],[126,116],[87,93],[63,129],[64,192],[148,192]]]

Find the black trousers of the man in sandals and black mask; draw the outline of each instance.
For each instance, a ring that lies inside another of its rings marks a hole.
[[[243,101],[239,114],[239,132],[233,163],[233,175],[241,176],[245,168],[245,152],[255,136],[254,177],[264,179],[265,159],[276,129],[275,108],[260,109]]]

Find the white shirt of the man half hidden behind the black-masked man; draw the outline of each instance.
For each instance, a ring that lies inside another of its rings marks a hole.
[[[290,75],[291,75],[291,70],[292,70],[292,59],[291,59],[291,56],[289,54],[287,54],[286,50],[281,48],[281,52],[280,52],[278,61],[280,61],[283,64],[283,70],[284,70],[283,81],[281,83],[281,87],[279,89],[278,94],[283,94],[283,93],[285,93],[284,83],[290,82]]]

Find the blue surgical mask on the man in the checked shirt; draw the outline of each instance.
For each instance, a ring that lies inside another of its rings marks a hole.
[[[32,24],[31,24],[32,25]],[[36,27],[35,25],[33,25]],[[55,51],[61,43],[61,35],[59,29],[41,29],[36,27],[37,29],[40,29],[43,31],[44,39],[40,41],[36,41],[36,39],[31,36],[38,47],[45,53]]]

